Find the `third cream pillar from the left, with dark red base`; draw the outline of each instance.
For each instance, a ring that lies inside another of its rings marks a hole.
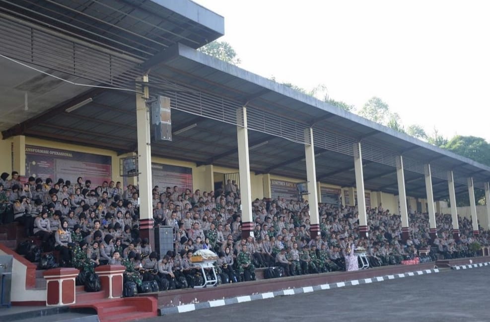
[[[310,206],[310,235],[320,235],[320,215],[318,213],[318,192],[316,184],[315,147],[313,146],[313,128],[304,130],[304,154],[306,161],[306,179],[308,180],[308,204]]]

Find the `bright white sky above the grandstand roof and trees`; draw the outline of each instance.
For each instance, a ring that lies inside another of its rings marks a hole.
[[[490,1],[194,1],[224,17],[241,68],[490,142]]]

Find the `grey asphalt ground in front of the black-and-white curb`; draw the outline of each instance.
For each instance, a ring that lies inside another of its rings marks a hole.
[[[442,270],[308,294],[252,301],[145,322],[488,322],[490,267]]]

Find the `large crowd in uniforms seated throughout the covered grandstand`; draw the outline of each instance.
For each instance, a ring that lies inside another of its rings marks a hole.
[[[255,199],[254,236],[241,237],[240,193],[228,181],[220,191],[194,193],[175,186],[153,189],[155,226],[174,228],[174,251],[157,254],[139,234],[138,189],[120,182],[93,187],[29,177],[0,176],[0,222],[12,220],[27,236],[42,240],[44,252],[57,250],[62,266],[93,272],[102,264],[123,264],[125,278],[138,285],[157,281],[160,290],[200,283],[194,252],[208,249],[217,256],[216,271],[225,281],[255,278],[255,268],[280,266],[286,276],[345,270],[345,256],[365,252],[371,266],[398,264],[431,246],[445,258],[473,254],[470,244],[489,244],[489,231],[473,236],[471,220],[459,218],[461,238],[453,239],[451,215],[437,214],[438,238],[431,241],[426,213],[410,210],[410,238],[402,242],[399,215],[378,207],[367,209],[368,237],[359,233],[355,206],[319,204],[321,235],[311,238],[308,201]]]

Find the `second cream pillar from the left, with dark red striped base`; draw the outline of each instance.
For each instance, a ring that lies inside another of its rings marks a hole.
[[[238,167],[240,173],[240,198],[242,200],[242,237],[253,236],[252,186],[250,184],[250,158],[248,154],[247,108],[237,110],[236,135],[238,142]]]

